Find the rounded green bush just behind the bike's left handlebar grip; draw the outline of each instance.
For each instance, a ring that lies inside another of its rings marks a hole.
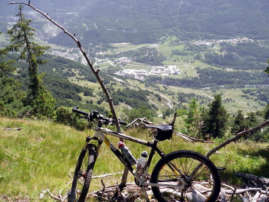
[[[81,109],[83,110],[83,109]],[[87,111],[87,110],[83,110]],[[78,113],[73,113],[72,108],[69,107],[59,107],[56,110],[56,116],[55,121],[67,126],[72,126],[76,128],[77,130],[85,130],[88,127],[88,121],[85,119],[79,119],[79,117],[82,115],[79,115]]]

